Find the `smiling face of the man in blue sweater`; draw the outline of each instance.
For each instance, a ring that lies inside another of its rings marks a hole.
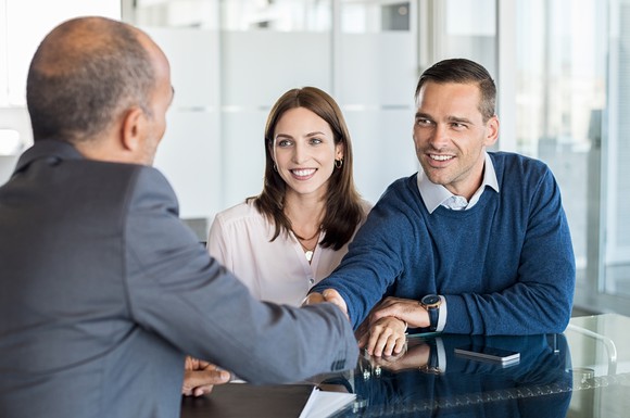
[[[481,185],[486,147],[499,136],[499,119],[483,122],[475,84],[429,81],[417,99],[416,154],[429,180],[470,199]]]

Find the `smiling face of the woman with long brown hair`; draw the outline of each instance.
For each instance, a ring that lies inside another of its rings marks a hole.
[[[287,195],[326,195],[335,160],[343,157],[326,121],[305,107],[290,109],[278,119],[272,147]]]

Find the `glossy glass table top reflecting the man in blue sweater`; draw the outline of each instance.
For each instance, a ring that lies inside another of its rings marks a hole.
[[[518,362],[474,359],[455,349],[518,352]],[[356,393],[336,417],[630,417],[630,318],[572,318],[562,334],[410,335],[398,357],[362,357],[325,383]]]

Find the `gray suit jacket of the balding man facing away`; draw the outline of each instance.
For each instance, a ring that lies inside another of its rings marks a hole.
[[[0,188],[0,417],[172,417],[185,354],[253,383],[350,368],[332,305],[249,295],[154,168],[37,142]]]

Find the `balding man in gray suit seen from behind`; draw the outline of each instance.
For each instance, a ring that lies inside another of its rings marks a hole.
[[[252,299],[182,226],[150,167],[172,99],[126,24],[72,20],[37,50],[35,144],[0,188],[1,417],[177,417],[185,354],[253,383],[354,366],[338,307]]]

